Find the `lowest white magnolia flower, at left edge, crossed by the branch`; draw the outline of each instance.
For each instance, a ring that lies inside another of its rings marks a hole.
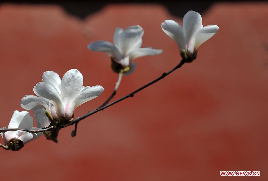
[[[29,112],[27,112],[27,111],[18,112],[16,110],[16,111],[14,111],[12,118],[10,120],[10,123],[9,123],[7,128],[21,128],[21,129],[27,129],[27,130],[39,129],[39,128],[33,128],[32,126],[33,126],[33,118],[29,114]],[[18,149],[20,149],[26,143],[38,138],[42,134],[43,134],[43,132],[29,133],[27,131],[7,131],[4,134],[1,133],[1,136],[4,138],[5,145],[9,144],[11,141],[11,142],[13,142],[13,147],[16,146],[16,145],[14,145],[15,142],[17,142],[16,139],[21,140],[23,142],[23,145],[18,147]]]

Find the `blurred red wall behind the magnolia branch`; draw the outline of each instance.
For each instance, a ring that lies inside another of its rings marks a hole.
[[[60,131],[59,143],[44,136],[18,152],[0,149],[2,180],[192,181],[267,180],[268,4],[217,3],[203,25],[218,33],[199,47],[197,60],[164,80]],[[190,9],[189,9],[190,10]],[[195,9],[192,9],[195,10]],[[60,77],[77,68],[84,85],[104,93],[78,107],[75,117],[102,104],[117,75],[92,41],[113,42],[115,28],[140,25],[142,47],[163,49],[135,60],[115,99],[168,71],[180,61],[176,43],[161,23],[182,18],[157,4],[112,4],[80,20],[60,6],[0,7],[1,125],[20,100],[34,94],[43,72]],[[33,115],[33,113],[31,112]],[[3,140],[1,141],[3,143]],[[261,177],[220,177],[219,171],[261,171]]]

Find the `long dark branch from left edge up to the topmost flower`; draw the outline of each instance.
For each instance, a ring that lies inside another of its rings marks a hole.
[[[56,126],[56,125],[54,125],[54,126],[50,126],[50,127],[47,127],[47,128],[40,128],[40,129],[38,129],[38,130],[27,130],[27,129],[20,129],[20,128],[5,128],[5,127],[4,127],[4,128],[0,128],[0,133],[2,133],[2,132],[6,132],[6,131],[27,131],[27,132],[29,132],[29,133],[39,133],[39,132],[44,132],[44,131],[60,130],[61,128],[65,128],[65,127],[67,127],[67,126],[71,126],[71,125],[73,125],[73,124],[75,124],[75,123],[78,123],[80,120],[83,120],[83,119],[87,118],[88,116],[91,116],[91,115],[95,114],[96,112],[99,112],[99,111],[101,111],[101,110],[103,110],[103,109],[106,109],[107,107],[112,106],[113,104],[116,104],[116,103],[118,103],[118,102],[120,102],[120,101],[123,101],[124,99],[127,99],[127,98],[129,98],[129,97],[133,97],[135,93],[138,93],[139,91],[141,91],[141,90],[147,88],[148,86],[154,84],[155,82],[158,82],[159,80],[165,78],[167,75],[171,74],[173,71],[175,71],[176,69],[180,68],[184,63],[186,63],[186,61],[185,61],[184,59],[182,59],[182,60],[180,61],[180,63],[179,63],[177,66],[175,66],[175,67],[174,67],[173,69],[171,69],[169,72],[164,72],[160,77],[158,77],[157,79],[153,80],[152,82],[149,82],[148,84],[142,86],[141,88],[138,88],[137,90],[135,90],[135,91],[133,91],[133,92],[127,94],[127,95],[124,96],[124,97],[121,97],[120,99],[117,99],[116,101],[111,102],[110,104],[107,104],[107,105],[104,105],[104,106],[102,106],[102,107],[99,107],[99,108],[95,109],[95,110],[92,111],[92,112],[89,112],[89,113],[87,113],[87,114],[85,114],[85,115],[82,115],[82,116],[80,116],[80,117],[78,117],[78,118],[76,118],[76,119],[70,121],[69,123],[65,123],[64,125],[63,125],[63,124],[60,125],[60,126]],[[121,77],[121,78],[122,78],[122,77]],[[119,83],[120,83],[120,81],[121,81],[121,78],[119,77],[119,80],[118,80]],[[117,86],[117,88],[118,88],[118,86]],[[107,100],[108,100],[108,99],[107,99]],[[77,126],[77,125],[76,125],[76,126]],[[2,147],[2,146],[0,145],[0,147]]]

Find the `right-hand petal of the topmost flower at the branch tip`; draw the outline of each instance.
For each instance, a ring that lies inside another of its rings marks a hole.
[[[218,30],[217,25],[208,25],[198,30],[191,39],[187,54],[192,55],[202,43],[210,39]]]

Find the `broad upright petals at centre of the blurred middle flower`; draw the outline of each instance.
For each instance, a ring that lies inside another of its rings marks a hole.
[[[143,34],[141,26],[134,25],[116,35],[116,43],[123,57],[126,57],[132,50],[141,47]]]

